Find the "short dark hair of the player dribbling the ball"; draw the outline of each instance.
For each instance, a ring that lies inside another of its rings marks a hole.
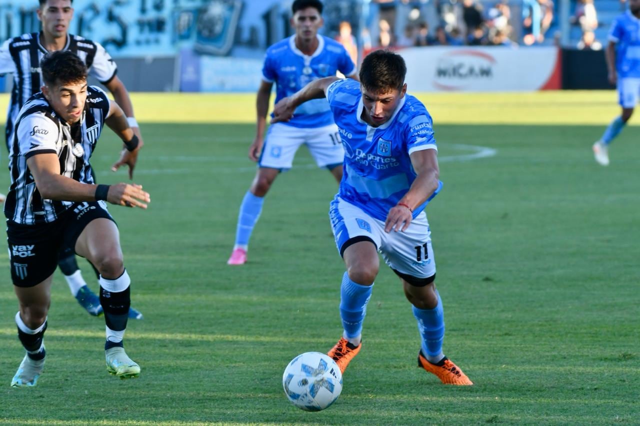
[[[403,57],[390,51],[373,51],[360,65],[360,83],[374,93],[402,90],[405,76]]]

